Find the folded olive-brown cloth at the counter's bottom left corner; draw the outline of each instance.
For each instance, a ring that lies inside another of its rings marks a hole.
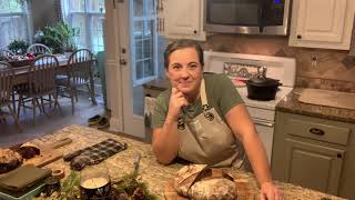
[[[50,174],[51,170],[49,169],[22,166],[9,172],[6,177],[1,177],[0,188],[11,191],[24,190]]]

